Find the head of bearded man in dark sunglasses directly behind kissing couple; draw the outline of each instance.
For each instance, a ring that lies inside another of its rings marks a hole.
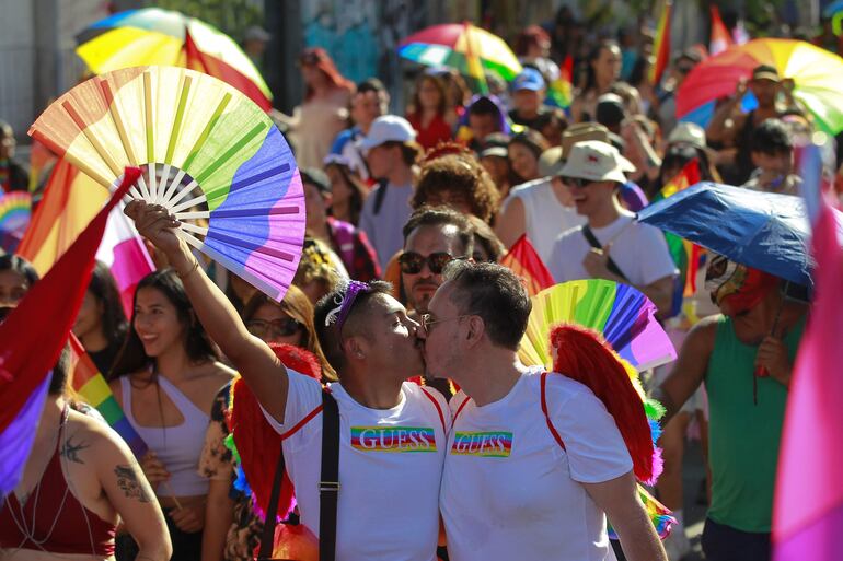
[[[452,259],[469,258],[474,245],[471,222],[448,207],[423,207],[404,225],[404,252],[399,257],[401,282],[411,314],[427,314],[442,283],[442,269]]]

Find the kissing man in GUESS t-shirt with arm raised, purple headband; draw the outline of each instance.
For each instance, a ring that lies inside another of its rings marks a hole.
[[[286,369],[251,335],[226,295],[176,237],[166,209],[134,201],[126,213],[168,259],[199,320],[249,384],[276,431],[285,435],[287,472],[302,524],[320,534],[322,387]],[[384,282],[349,281],[324,296],[315,322],[340,382],[330,384],[339,409],[336,560],[434,561],[439,487],[450,430],[441,394],[404,382],[424,370],[418,324]]]

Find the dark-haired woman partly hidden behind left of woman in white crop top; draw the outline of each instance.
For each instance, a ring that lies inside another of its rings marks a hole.
[[[82,307],[73,324],[73,335],[79,338],[100,372],[107,373],[123,346],[127,329],[128,322],[117,283],[108,266],[96,261]]]

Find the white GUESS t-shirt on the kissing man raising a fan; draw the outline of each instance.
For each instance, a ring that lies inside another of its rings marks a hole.
[[[280,434],[322,405],[319,382],[287,372],[290,386],[284,425],[264,411]],[[340,384],[330,387],[339,408],[337,561],[435,560],[439,487],[450,430],[444,398],[425,388],[437,400],[437,409],[418,385],[405,382],[401,404],[369,409]],[[322,416],[285,440],[282,449],[301,522],[319,536]]]

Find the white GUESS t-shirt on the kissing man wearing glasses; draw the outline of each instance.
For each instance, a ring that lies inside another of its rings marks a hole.
[[[621,433],[582,384],[547,376],[547,407],[566,448],[541,408],[541,367],[522,375],[503,399],[469,399],[453,421],[440,509],[452,561],[614,560],[605,515],[580,483],[632,470]],[[451,399],[457,412],[466,396]]]

